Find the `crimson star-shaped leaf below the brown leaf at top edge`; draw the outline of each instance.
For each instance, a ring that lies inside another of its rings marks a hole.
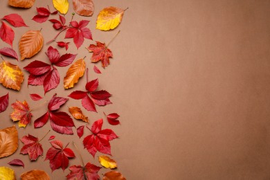
[[[82,20],[79,23],[77,21],[71,21],[71,27],[66,30],[64,38],[73,38],[76,47],[80,48],[84,42],[84,38],[93,40],[91,30],[86,28],[87,24],[89,24],[87,20]]]

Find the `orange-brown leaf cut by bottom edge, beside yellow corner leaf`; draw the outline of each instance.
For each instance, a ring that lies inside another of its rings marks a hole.
[[[50,177],[43,170],[30,170],[21,174],[21,180],[50,180]]]

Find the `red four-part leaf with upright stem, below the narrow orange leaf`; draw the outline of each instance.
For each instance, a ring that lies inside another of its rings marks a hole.
[[[95,104],[98,106],[105,106],[111,104],[111,101],[109,100],[111,94],[105,90],[96,91],[97,88],[98,79],[91,80],[85,85],[85,89],[87,91],[73,91],[71,94],[69,94],[69,97],[75,100],[82,99],[82,106],[87,109],[87,111],[96,112]],[[88,94],[90,95],[90,97],[88,96]]]

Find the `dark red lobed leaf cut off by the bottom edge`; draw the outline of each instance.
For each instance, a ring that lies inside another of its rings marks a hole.
[[[90,162],[87,163],[85,166],[81,165],[71,165],[69,167],[69,170],[71,171],[69,174],[67,174],[66,179],[68,180],[74,180],[74,179],[99,179],[98,171],[101,168],[91,164]]]

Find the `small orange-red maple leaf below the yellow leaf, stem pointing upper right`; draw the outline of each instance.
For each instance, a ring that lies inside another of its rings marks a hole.
[[[89,52],[93,52],[93,55],[91,57],[91,62],[102,62],[102,66],[106,67],[109,65],[109,58],[113,57],[113,54],[111,53],[111,50],[107,48],[105,43],[96,42],[96,45],[90,44],[88,47]]]

